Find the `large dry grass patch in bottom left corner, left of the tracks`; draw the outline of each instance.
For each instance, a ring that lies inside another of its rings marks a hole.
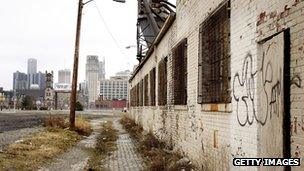
[[[0,170],[37,170],[80,139],[75,132],[48,128],[10,145],[6,151],[0,153]]]

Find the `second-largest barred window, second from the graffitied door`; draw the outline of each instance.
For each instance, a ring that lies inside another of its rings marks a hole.
[[[174,104],[187,104],[187,39],[173,49]]]

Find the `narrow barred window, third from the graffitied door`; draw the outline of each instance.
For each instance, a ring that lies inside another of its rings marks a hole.
[[[158,64],[158,105],[167,104],[167,58]]]

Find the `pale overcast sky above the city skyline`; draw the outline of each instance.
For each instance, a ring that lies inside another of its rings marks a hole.
[[[106,60],[107,77],[137,63],[137,1],[95,0],[116,45],[91,2],[84,7],[79,81],[85,79],[86,55]],[[12,89],[13,72],[27,71],[27,59],[38,71],[72,69],[78,0],[0,0],[0,87]]]

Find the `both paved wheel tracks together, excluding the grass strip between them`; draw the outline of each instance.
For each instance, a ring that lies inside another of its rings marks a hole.
[[[40,169],[40,171],[82,171],[87,165],[90,154],[88,148],[94,148],[96,144],[97,131],[102,121],[113,121],[113,126],[118,130],[117,150],[104,160],[103,168],[109,171],[141,171],[144,170],[144,162],[135,149],[135,144],[129,134],[122,128],[116,118],[92,120],[93,133],[82,140],[77,146],[71,148],[67,153],[55,159],[55,162]]]

